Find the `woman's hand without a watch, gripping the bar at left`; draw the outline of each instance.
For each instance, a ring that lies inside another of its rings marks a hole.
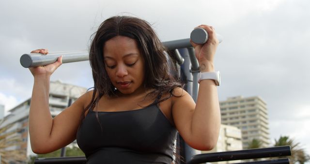
[[[48,50],[47,49],[36,49],[31,51],[30,53],[42,53],[47,55]],[[49,64],[47,66],[38,66],[38,67],[30,67],[29,70],[31,71],[31,74],[33,77],[35,76],[50,76],[59,66],[62,65],[62,56],[60,56],[57,61],[53,64]]]

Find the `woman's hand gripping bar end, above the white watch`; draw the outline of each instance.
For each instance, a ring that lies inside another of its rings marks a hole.
[[[209,37],[206,43],[203,45],[195,44],[194,42],[190,41],[192,46],[195,48],[195,55],[200,63],[200,66],[202,64],[204,65],[203,70],[201,71],[214,71],[213,68],[213,61],[214,61],[214,55],[217,50],[217,45],[218,45],[218,39],[216,32],[212,26],[208,25],[200,25],[196,28],[203,28],[205,31],[207,31]],[[211,70],[210,70],[211,69]]]

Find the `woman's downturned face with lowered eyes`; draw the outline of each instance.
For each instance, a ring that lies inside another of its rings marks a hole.
[[[112,84],[123,94],[144,91],[144,59],[137,42],[126,36],[116,36],[103,47],[105,69]]]

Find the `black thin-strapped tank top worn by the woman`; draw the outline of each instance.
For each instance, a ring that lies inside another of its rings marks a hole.
[[[171,164],[176,129],[157,107],[90,111],[77,131],[87,164]]]

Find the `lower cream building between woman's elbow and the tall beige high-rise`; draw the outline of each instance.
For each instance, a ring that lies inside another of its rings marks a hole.
[[[241,130],[234,126],[222,124],[219,131],[217,146],[210,151],[202,151],[202,153],[233,151],[241,149],[242,149]],[[238,162],[241,161],[238,160],[238,161],[213,162],[212,164],[233,164]]]

